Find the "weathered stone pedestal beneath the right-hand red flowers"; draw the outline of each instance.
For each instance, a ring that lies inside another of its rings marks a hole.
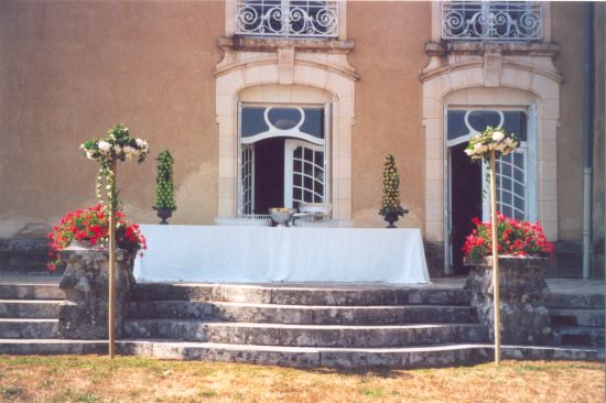
[[[501,344],[545,345],[551,338],[551,319],[545,307],[550,291],[545,282],[549,260],[499,258]],[[491,258],[469,271],[465,290],[479,323],[488,326],[494,341],[494,292]]]

